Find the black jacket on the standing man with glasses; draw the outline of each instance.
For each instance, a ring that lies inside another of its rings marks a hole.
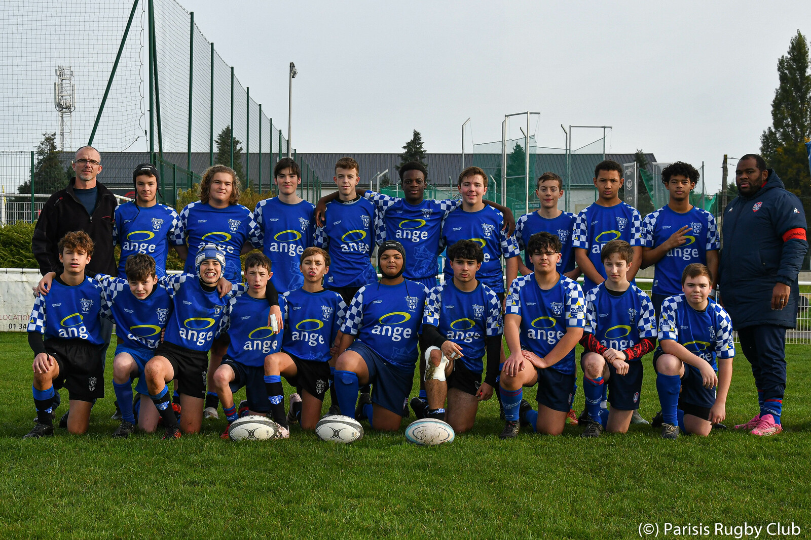
[[[57,243],[67,232],[87,232],[95,244],[93,256],[85,275],[115,275],[115,257],[113,254],[113,222],[115,206],[118,202],[109,189],[96,181],[97,198],[93,215],[79,202],[73,191],[76,179],[65,189],[50,196],[36,220],[36,228],[31,241],[31,249],[40,265],[40,272],[62,274],[62,263],[59,262]]]

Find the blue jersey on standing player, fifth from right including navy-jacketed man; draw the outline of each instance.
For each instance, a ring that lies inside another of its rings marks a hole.
[[[504,215],[500,210],[485,205],[482,210],[466,212],[457,208],[442,220],[442,245],[449,248],[459,240],[474,240],[482,245],[484,262],[476,272],[476,279],[494,292],[504,292],[504,274],[501,260],[521,254],[515,236],[507,237],[502,231]],[[446,250],[447,256],[447,250]],[[445,281],[453,279],[453,269],[445,264]]]

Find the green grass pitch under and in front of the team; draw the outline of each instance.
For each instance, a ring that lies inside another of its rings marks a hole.
[[[805,536],[809,354],[788,347],[785,431],[770,439],[730,429],[669,441],[632,427],[581,440],[567,427],[556,438],[502,441],[493,399],[473,432],[436,448],[407,444],[402,432],[339,446],[297,426],[290,440],[234,444],[219,438],[224,420],[174,443],[113,440],[108,359],[107,397],[88,435],[21,440],[34,416],[32,355],[25,334],[0,334],[0,538],[639,538],[641,522],[744,521],[794,521]],[[650,419],[659,402],[650,355],[643,362]],[[742,355],[735,370],[730,425],[756,412]],[[578,390],[578,410],[582,402]]]

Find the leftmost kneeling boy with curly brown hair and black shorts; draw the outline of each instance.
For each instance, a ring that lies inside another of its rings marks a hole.
[[[62,274],[47,296],[34,300],[28,321],[28,345],[34,351],[36,423],[25,437],[53,436],[55,389],[67,388],[67,431],[88,431],[93,402],[104,398],[104,347],[101,333],[101,288],[84,275],[93,241],[84,231],[68,232],[58,243]],[[45,341],[43,341],[43,337]]]

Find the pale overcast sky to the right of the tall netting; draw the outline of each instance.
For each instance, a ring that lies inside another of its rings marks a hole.
[[[560,124],[611,125],[607,151],[704,161],[709,185],[724,153],[758,151],[777,61],[811,35],[807,0],[179,2],[285,134],[295,62],[298,151],[396,152],[416,129],[458,152],[468,117],[467,145],[529,109],[541,146],[564,146]]]

